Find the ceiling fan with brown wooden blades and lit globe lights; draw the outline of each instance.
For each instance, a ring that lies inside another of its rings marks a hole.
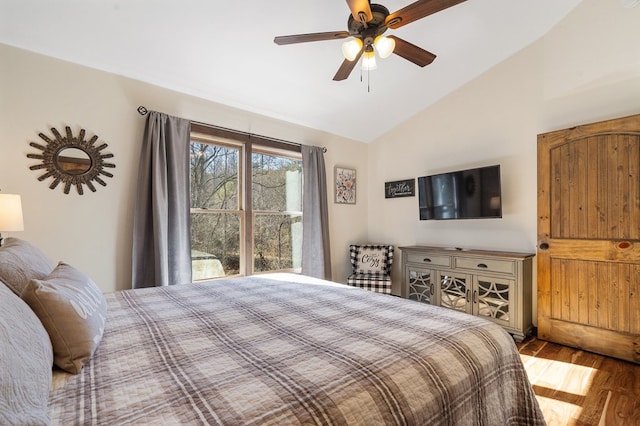
[[[333,77],[335,81],[349,77],[360,57],[363,57],[364,70],[374,69],[376,51],[381,58],[395,53],[424,67],[433,62],[436,55],[399,37],[387,37],[382,34],[389,28],[400,28],[465,0],[418,0],[394,13],[389,13],[389,10],[382,5],[371,4],[369,0],[346,1],[351,10],[347,22],[348,31],[278,36],[273,41],[278,45],[285,45],[353,37],[351,41],[344,42],[342,45],[345,60]]]

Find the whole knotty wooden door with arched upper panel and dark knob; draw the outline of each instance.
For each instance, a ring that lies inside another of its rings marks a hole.
[[[640,115],[538,135],[538,337],[640,362]]]

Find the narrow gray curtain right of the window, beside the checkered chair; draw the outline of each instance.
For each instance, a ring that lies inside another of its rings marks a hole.
[[[327,173],[323,149],[302,145],[302,273],[331,279]]]

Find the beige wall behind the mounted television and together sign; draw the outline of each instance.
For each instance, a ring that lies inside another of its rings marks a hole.
[[[640,113],[638,40],[640,7],[585,0],[543,39],[376,140],[369,238],[535,252],[536,136]],[[385,181],[490,164],[502,168],[502,219],[419,221],[417,196],[384,199]]]

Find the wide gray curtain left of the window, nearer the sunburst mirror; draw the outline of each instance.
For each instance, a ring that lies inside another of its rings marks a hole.
[[[133,288],[191,282],[188,120],[147,115],[133,221]]]

